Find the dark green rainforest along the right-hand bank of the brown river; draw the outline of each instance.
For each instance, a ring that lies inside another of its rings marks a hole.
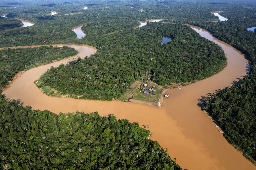
[[[247,26],[256,24],[255,8],[249,8],[252,6],[221,13],[228,18],[225,22],[193,24],[234,46],[251,61],[247,77],[213,94],[203,108],[224,130],[228,142],[256,164],[256,33],[247,31]]]

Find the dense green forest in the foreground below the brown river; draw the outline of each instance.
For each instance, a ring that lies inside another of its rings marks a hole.
[[[3,169],[181,170],[138,123],[98,113],[56,115],[0,97]]]

